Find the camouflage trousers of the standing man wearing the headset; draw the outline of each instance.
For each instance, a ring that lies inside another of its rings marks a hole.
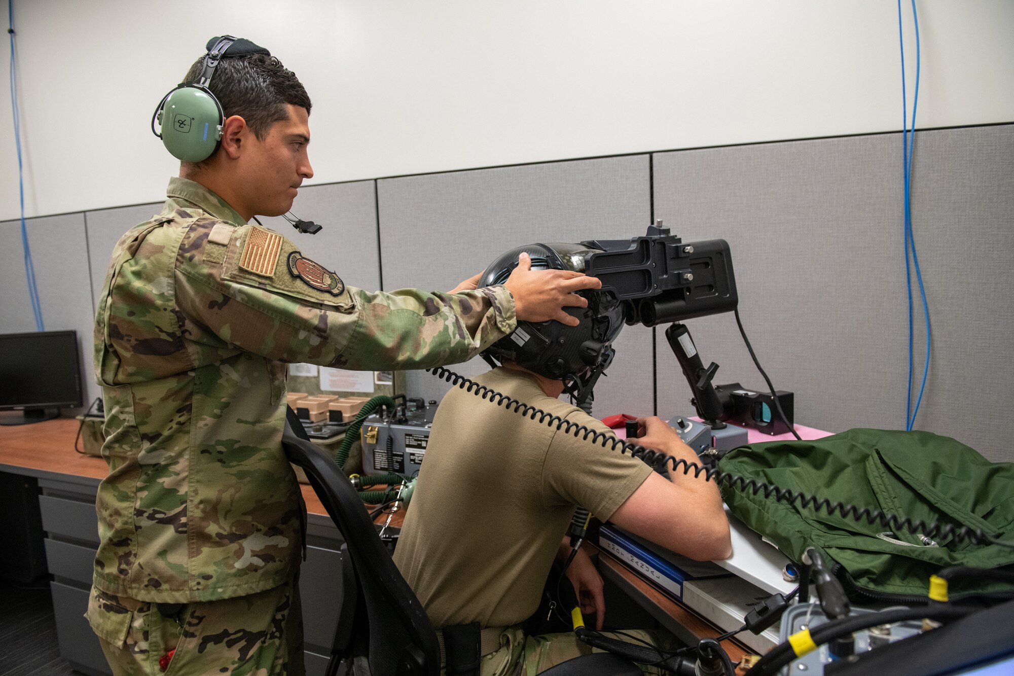
[[[115,676],[304,673],[302,613],[294,583],[189,603],[175,617],[165,617],[154,603],[92,588],[87,617]],[[169,651],[174,653],[166,660]],[[164,671],[160,659],[168,662]]]

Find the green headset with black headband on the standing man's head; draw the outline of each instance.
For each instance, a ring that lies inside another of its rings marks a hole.
[[[225,52],[235,44],[229,56],[271,53],[242,38],[232,36],[212,38],[208,41],[208,54],[204,58],[204,69],[193,82],[177,84],[162,97],[151,116],[151,131],[162,139],[165,149],[173,157],[185,162],[199,162],[211,157],[222,139],[222,125],[225,116],[222,105],[208,86],[215,74],[218,62],[225,58]],[[155,123],[159,131],[155,130]]]

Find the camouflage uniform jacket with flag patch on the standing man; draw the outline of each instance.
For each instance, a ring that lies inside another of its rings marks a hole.
[[[140,601],[271,589],[298,566],[302,511],[281,448],[286,362],[422,368],[515,327],[504,287],[345,286],[225,201],[169,181],[113,252],[95,318],[105,404],[94,585]]]

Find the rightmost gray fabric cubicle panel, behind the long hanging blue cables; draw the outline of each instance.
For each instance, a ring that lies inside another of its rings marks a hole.
[[[913,222],[933,332],[917,428],[1014,461],[1014,126],[919,132]],[[904,424],[908,302],[901,139],[859,136],[654,155],[655,214],[729,242],[743,323],[796,419]],[[917,336],[923,335],[919,291]],[[716,383],[763,388],[731,315],[687,324]],[[918,393],[925,343],[916,340]],[[658,332],[660,415],[691,410]]]

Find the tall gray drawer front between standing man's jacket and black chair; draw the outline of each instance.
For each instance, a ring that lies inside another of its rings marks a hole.
[[[340,552],[306,548],[306,561],[299,570],[299,599],[303,606],[303,639],[307,648],[330,655],[338,611],[342,607]]]

